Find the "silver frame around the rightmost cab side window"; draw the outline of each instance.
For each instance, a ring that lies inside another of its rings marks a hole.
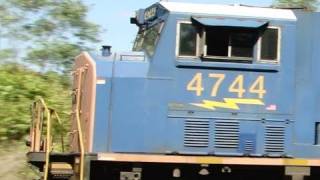
[[[267,63],[267,64],[279,64],[280,57],[281,57],[281,39],[282,39],[281,27],[280,26],[268,26],[267,29],[277,29],[278,30],[277,58],[276,59],[261,59],[262,36],[260,36],[257,41],[257,62]]]

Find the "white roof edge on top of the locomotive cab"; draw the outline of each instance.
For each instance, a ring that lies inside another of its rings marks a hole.
[[[181,2],[159,2],[164,8],[174,13],[191,13],[214,16],[230,16],[243,18],[276,19],[296,21],[293,10],[239,5],[215,5]]]

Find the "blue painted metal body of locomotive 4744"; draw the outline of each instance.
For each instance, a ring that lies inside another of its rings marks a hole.
[[[250,63],[209,62],[176,55],[177,23],[190,21],[192,14],[170,13],[159,4],[152,7],[157,6],[165,25],[152,57],[92,55],[98,79],[106,80],[97,84],[94,152],[320,156],[315,142],[320,122],[319,13],[296,11],[297,21],[268,21],[280,27],[279,63],[261,63],[256,57]],[[222,25],[241,21],[205,18]],[[266,19],[252,17],[250,22],[257,26]],[[200,95],[188,90],[197,73]],[[215,96],[217,79],[210,74],[224,75]],[[239,75],[242,97],[230,91]],[[264,77],[263,97],[249,90],[259,76]],[[243,99],[255,101],[239,102]]]

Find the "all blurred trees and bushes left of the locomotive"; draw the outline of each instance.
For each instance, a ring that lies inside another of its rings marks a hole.
[[[69,124],[73,59],[99,46],[88,11],[81,0],[0,0],[0,179],[31,179],[23,142],[36,97]]]

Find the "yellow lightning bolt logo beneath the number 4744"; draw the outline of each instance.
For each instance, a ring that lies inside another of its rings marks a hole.
[[[202,103],[191,103],[194,106],[215,110],[216,108],[240,110],[239,104],[264,105],[260,99],[224,98],[224,102],[203,100]]]

